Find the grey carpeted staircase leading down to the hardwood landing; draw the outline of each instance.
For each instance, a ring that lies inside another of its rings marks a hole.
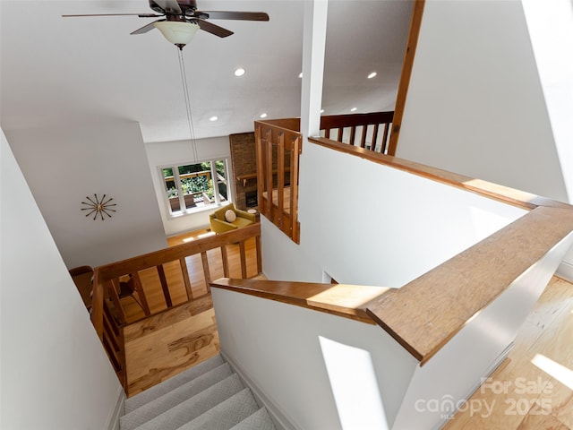
[[[218,355],[125,400],[120,430],[276,430]]]

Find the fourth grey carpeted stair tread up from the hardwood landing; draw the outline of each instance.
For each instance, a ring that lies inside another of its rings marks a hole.
[[[258,409],[251,390],[245,388],[177,430],[229,430]]]

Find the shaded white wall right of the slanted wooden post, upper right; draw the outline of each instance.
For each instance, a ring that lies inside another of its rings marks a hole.
[[[521,2],[426,1],[397,155],[567,201]]]

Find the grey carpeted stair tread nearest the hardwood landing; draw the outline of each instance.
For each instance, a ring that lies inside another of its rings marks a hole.
[[[158,383],[146,391],[142,391],[139,394],[136,394],[135,396],[125,400],[125,414],[128,414],[135,409],[141,408],[141,406],[145,405],[146,403],[161,397],[179,385],[188,383],[197,376],[200,376],[205,372],[209,372],[215,367],[223,365],[223,363],[223,358],[220,355],[211,357],[210,359],[203,361],[197,366],[190,367],[181,374],[176,374],[172,378],[169,378],[162,383]]]

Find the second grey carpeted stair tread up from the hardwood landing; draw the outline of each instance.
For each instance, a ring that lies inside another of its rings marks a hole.
[[[188,383],[179,385],[174,390],[120,417],[121,429],[134,430],[137,426],[141,426],[150,419],[199,394],[201,391],[207,390],[211,385],[222,381],[231,374],[233,374],[233,371],[227,363],[205,374],[201,374]]]

